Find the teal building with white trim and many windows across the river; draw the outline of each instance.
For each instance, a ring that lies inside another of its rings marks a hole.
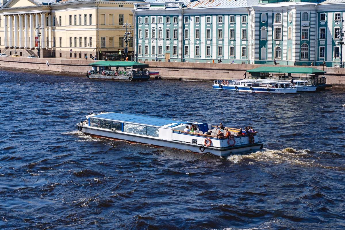
[[[133,11],[139,61],[334,67],[345,54],[345,0],[156,0]]]

